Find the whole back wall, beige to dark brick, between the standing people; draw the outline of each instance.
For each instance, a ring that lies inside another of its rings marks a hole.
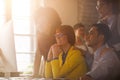
[[[56,9],[63,24],[88,26],[98,20],[96,0],[45,0],[45,5]]]

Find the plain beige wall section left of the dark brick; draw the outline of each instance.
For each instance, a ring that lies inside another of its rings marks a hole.
[[[78,0],[45,0],[45,5],[59,13],[63,24],[74,25],[78,22]]]

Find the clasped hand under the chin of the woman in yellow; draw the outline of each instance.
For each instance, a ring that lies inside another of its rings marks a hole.
[[[53,53],[53,59],[58,58],[60,52],[62,51],[58,44],[54,44],[51,47]]]

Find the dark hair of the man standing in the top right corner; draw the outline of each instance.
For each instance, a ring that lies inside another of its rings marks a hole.
[[[112,4],[113,14],[119,14],[120,10],[120,0],[101,0],[107,4]]]

